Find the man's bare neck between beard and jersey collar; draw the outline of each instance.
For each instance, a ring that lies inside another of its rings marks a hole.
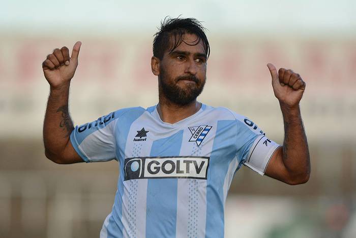
[[[198,112],[200,108],[201,103],[197,100],[194,100],[193,102],[184,106],[172,103],[167,100],[160,100],[158,103],[157,111],[162,121],[173,124],[187,117],[190,117],[191,115]]]

